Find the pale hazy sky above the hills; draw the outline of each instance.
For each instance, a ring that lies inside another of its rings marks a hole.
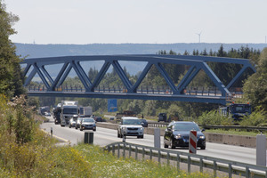
[[[14,43],[262,44],[266,0],[2,0]],[[199,35],[200,34],[200,35]],[[200,36],[200,38],[199,38]]]

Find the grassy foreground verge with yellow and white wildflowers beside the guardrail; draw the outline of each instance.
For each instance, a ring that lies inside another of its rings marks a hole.
[[[99,146],[79,144],[77,146],[54,147],[49,137],[42,143],[12,146],[9,151],[16,158],[17,166],[4,163],[0,166],[0,177],[184,177],[206,178],[213,174],[191,173],[176,167],[161,165],[150,160],[136,161],[134,158],[117,158]],[[44,143],[45,142],[45,143]],[[11,158],[12,159],[12,158]]]

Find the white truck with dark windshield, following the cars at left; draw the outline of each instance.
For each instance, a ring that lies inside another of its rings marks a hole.
[[[78,114],[78,101],[61,101],[61,126],[69,125],[69,120]]]

